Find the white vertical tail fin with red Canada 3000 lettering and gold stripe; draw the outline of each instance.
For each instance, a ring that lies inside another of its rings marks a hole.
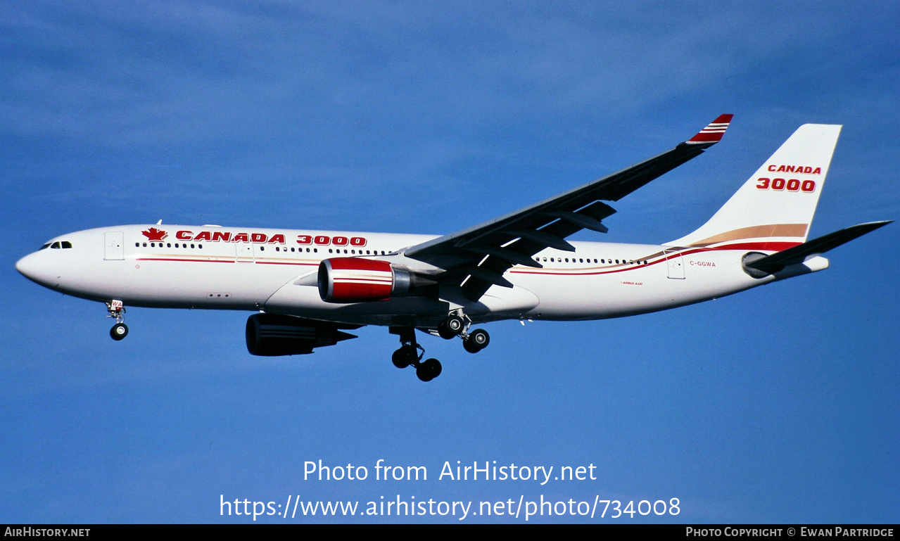
[[[805,242],[841,128],[800,126],[707,223],[665,244],[780,251]]]

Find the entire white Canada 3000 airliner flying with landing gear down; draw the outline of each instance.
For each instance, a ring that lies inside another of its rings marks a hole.
[[[689,140],[632,167],[445,236],[218,225],[122,225],[49,239],[16,269],[51,290],[104,302],[110,335],[128,334],[126,306],[256,311],[256,356],[312,353],[386,326],[393,365],[422,381],[416,330],[462,338],[477,353],[497,320],[602,320],[662,311],[824,270],[822,254],[890,221],[807,240],[841,132],[804,124],[704,225],[662,245],[568,241],[608,231],[605,202],[698,157],[722,140],[722,114]]]

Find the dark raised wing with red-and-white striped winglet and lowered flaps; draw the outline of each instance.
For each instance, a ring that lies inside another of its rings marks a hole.
[[[446,270],[437,279],[462,285],[477,301],[491,287],[512,287],[503,277],[509,267],[540,267],[532,257],[545,248],[574,251],[565,238],[582,229],[607,232],[602,221],[616,212],[603,201],[627,194],[695,158],[722,140],[731,114],[722,114],[689,140],[659,156],[604,176],[540,203],[405,250],[406,257]]]

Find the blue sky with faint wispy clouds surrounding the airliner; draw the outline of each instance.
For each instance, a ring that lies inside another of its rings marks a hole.
[[[896,225],[823,273],[715,302],[495,323],[477,356],[423,338],[444,363],[428,384],[391,365],[379,328],[272,359],[247,354],[247,313],[133,309],[114,343],[103,306],[14,262],[159,219],[449,233],[719,113],[735,114],[723,143],[616,203],[602,240],[696,229],[805,122],[844,125],[812,235],[896,219],[898,24],[890,2],[5,2],[0,521],[247,521],[220,517],[220,495],[543,494],[679,498],[679,522],[896,522]],[[380,458],[428,481],[303,480],[308,460]],[[598,479],[437,481],[457,460]],[[587,521],[540,518],[566,520]]]

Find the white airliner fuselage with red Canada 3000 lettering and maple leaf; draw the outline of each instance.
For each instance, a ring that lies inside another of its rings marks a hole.
[[[441,287],[437,298],[405,296],[353,304],[321,300],[317,270],[323,259],[377,258],[428,274],[439,269],[403,257],[402,250],[434,238],[127,225],[62,235],[50,240],[48,248],[23,257],[16,267],[61,293],[100,302],[117,299],[125,306],[270,311],[417,326],[441,320],[457,308],[473,321],[614,318],[706,301],[776,279],[753,278],[743,271],[747,248],[572,242],[575,252],[547,248],[536,254],[543,268],[513,266],[504,277],[515,287],[491,286],[479,302],[465,300],[458,287]],[[62,248],[67,245],[71,248]]]

